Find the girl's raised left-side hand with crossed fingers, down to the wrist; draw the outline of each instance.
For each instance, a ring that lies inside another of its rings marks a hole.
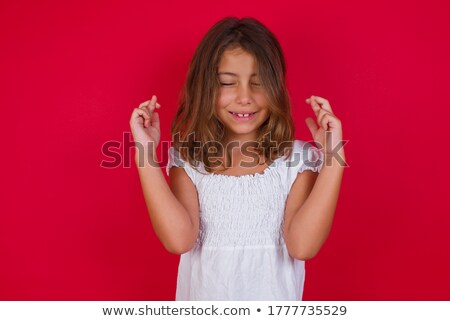
[[[154,110],[160,108],[161,105],[156,102],[155,95],[152,99],[147,100],[133,109],[130,119],[131,133],[135,143],[140,143],[145,148],[152,148],[149,152],[155,154],[156,147],[161,138],[159,128],[159,115]]]

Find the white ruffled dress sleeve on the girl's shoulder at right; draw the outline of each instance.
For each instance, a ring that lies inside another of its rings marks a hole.
[[[311,143],[303,140],[295,140],[293,143],[292,154],[286,161],[288,173],[288,187],[292,186],[298,173],[305,170],[320,173],[324,163],[324,154]]]

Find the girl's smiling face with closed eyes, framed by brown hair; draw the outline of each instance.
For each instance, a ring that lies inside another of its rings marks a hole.
[[[255,59],[240,48],[225,50],[218,73],[216,113],[224,124],[226,141],[256,140],[258,128],[270,113]]]

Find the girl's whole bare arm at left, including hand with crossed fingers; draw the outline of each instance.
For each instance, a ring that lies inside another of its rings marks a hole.
[[[164,178],[155,152],[161,137],[159,108],[156,95],[141,103],[131,114],[130,128],[139,147],[135,161],[155,233],[169,252],[181,254],[192,248],[198,234],[197,191],[182,168],[171,169],[172,190]]]

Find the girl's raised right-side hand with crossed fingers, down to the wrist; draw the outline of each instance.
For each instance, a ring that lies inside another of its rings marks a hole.
[[[335,147],[342,145],[342,124],[341,121],[334,115],[328,100],[318,96],[311,96],[306,99],[307,104],[311,104],[311,107],[316,114],[316,122],[308,117],[305,119],[317,147],[323,148],[323,152],[328,154]]]

